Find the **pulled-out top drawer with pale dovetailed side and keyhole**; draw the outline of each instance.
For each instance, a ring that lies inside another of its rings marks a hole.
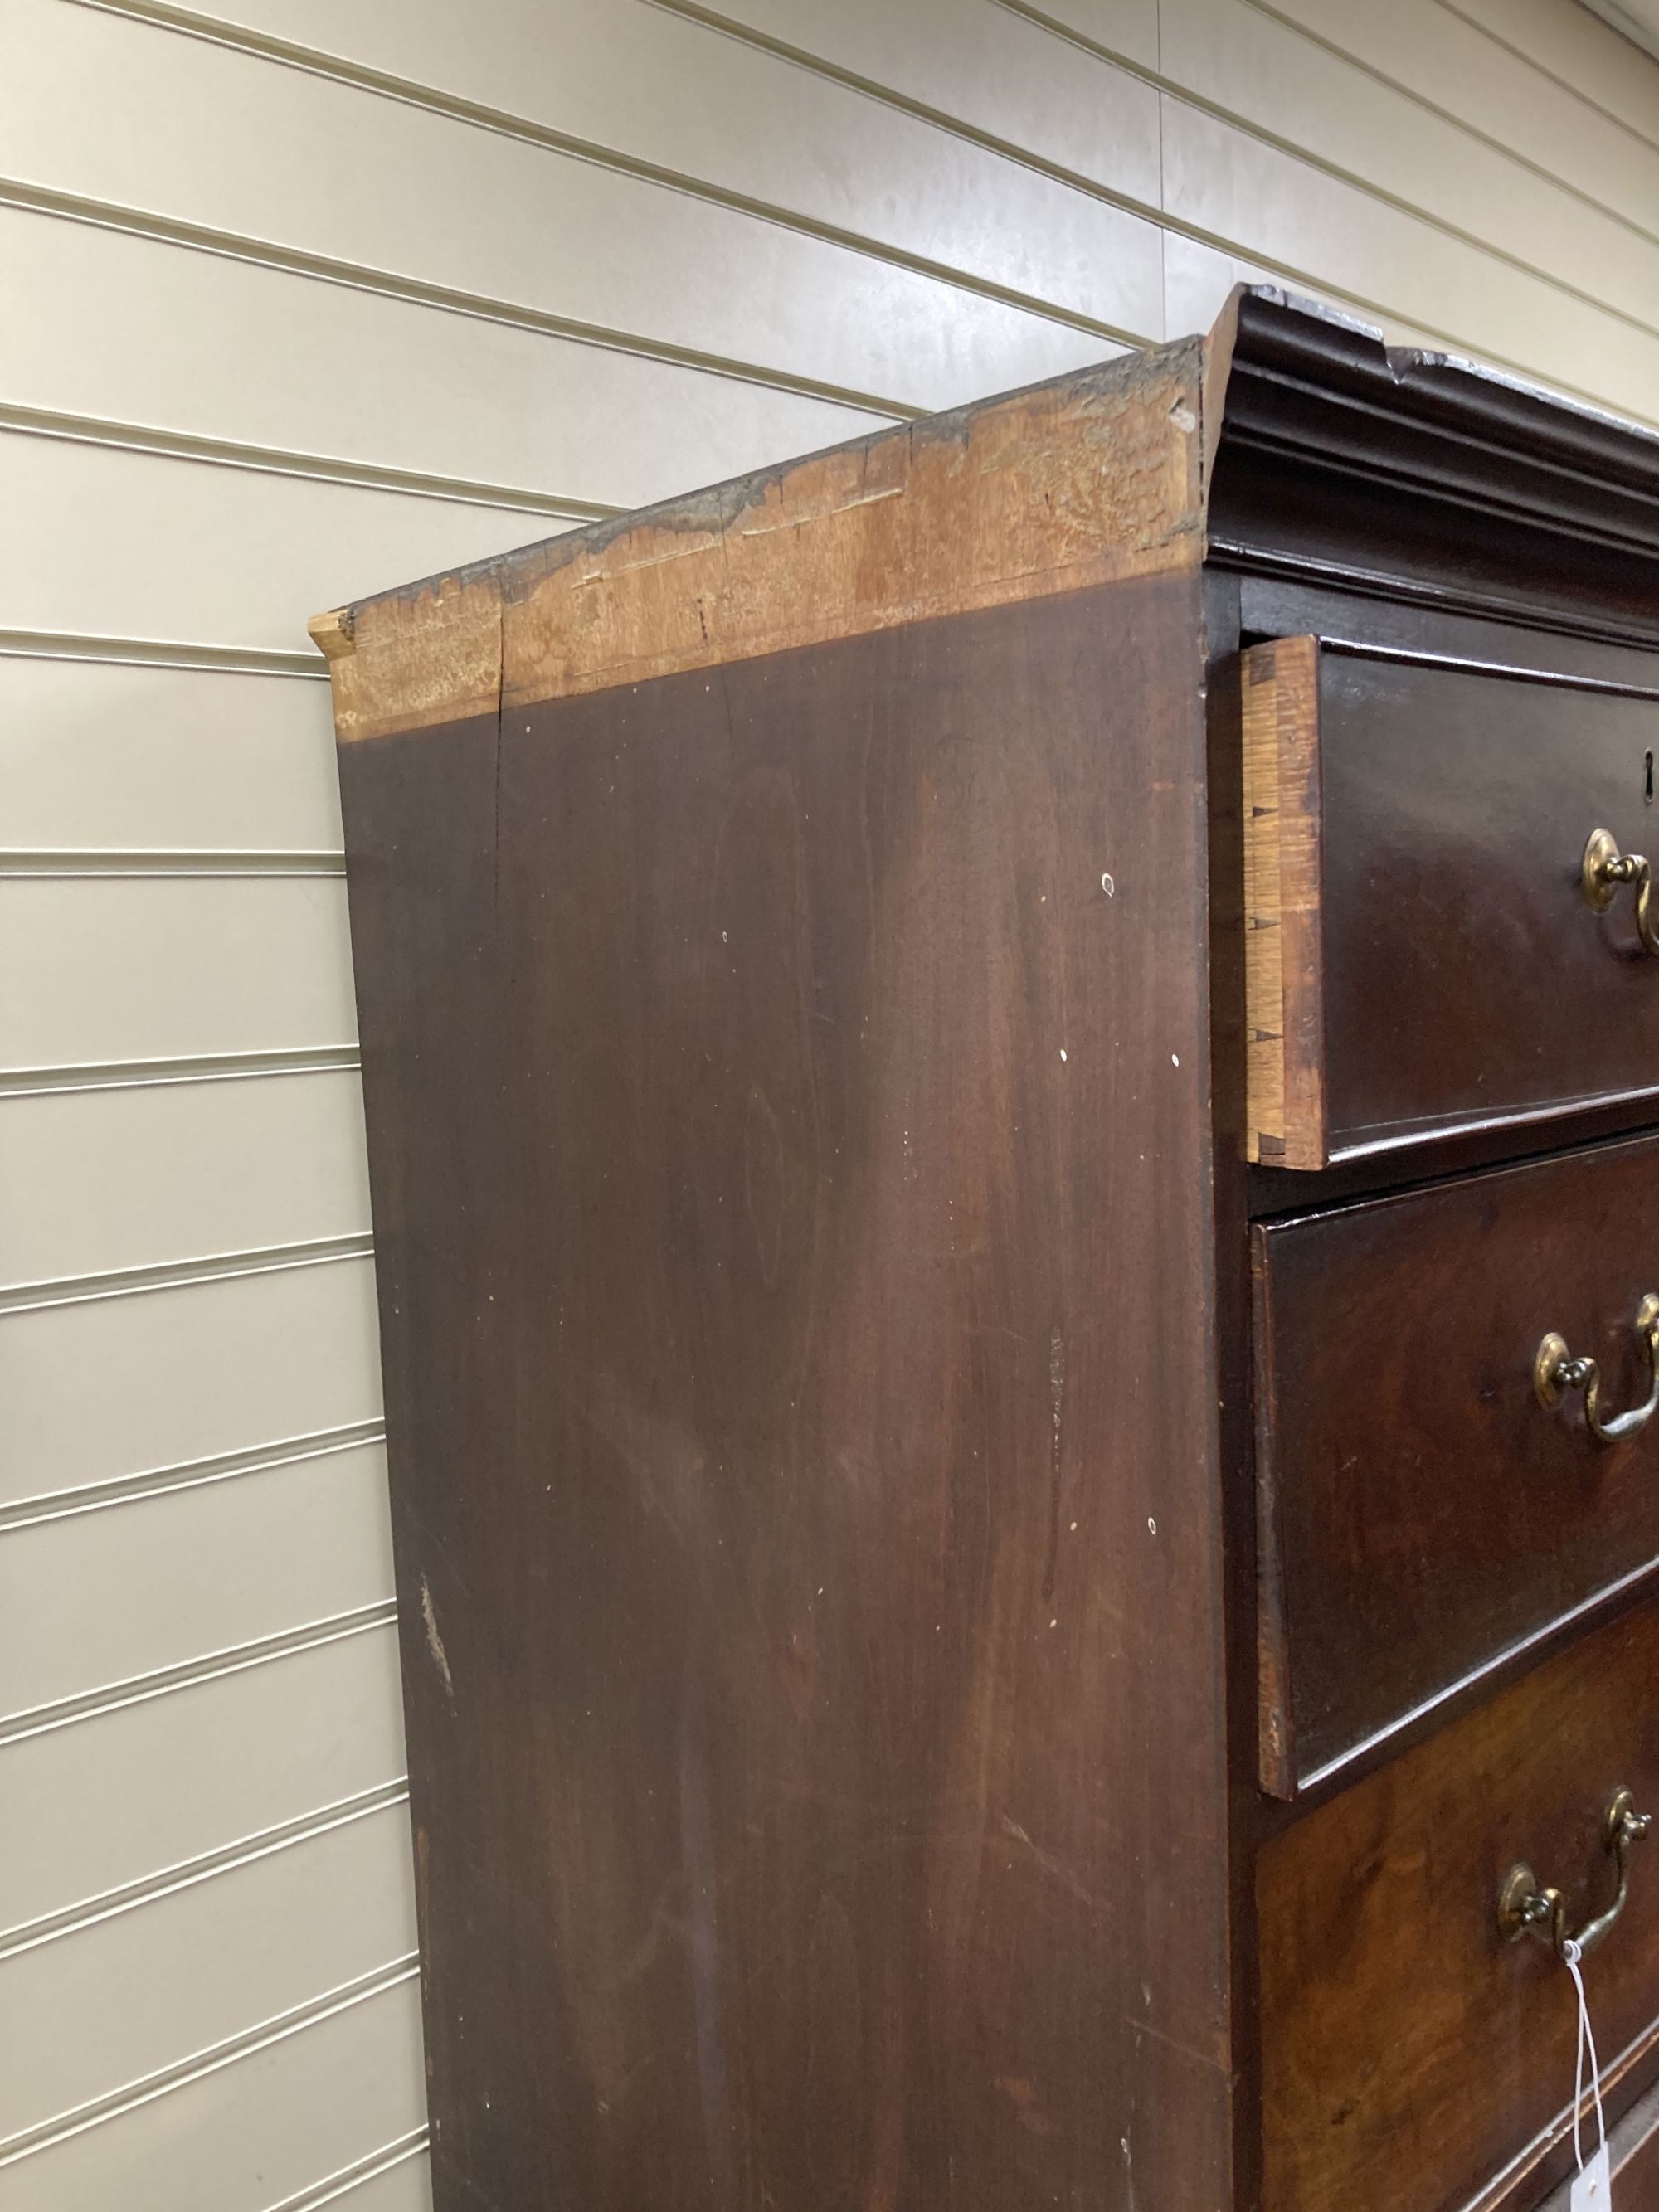
[[[1243,655],[1250,1155],[1321,1168],[1659,1086],[1635,889],[1659,690],[1334,650]],[[1659,938],[1659,894],[1655,894]]]

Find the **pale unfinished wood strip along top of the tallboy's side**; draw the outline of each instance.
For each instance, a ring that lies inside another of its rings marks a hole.
[[[319,615],[341,743],[1197,568],[1201,387],[1186,338]]]

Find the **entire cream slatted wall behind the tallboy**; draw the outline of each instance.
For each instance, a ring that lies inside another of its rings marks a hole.
[[[1659,420],[1659,64],[1573,0],[164,18],[9,0],[0,71],[0,2212],[422,2212],[303,617],[1263,276]]]

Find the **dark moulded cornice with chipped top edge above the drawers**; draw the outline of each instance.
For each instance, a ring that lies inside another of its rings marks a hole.
[[[1214,354],[1214,560],[1659,639],[1652,431],[1272,290]]]

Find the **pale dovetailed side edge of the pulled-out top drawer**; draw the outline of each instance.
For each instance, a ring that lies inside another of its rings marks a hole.
[[[1243,655],[1248,1150],[1325,1166],[1318,639]]]

